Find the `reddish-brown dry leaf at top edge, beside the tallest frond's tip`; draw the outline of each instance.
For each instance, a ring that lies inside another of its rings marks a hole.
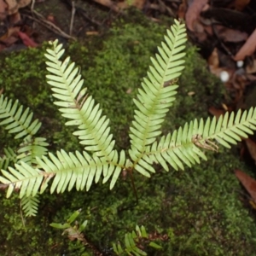
[[[185,15],[186,25],[190,31],[195,31],[195,21],[198,20],[201,10],[207,5],[208,0],[194,0],[189,4],[189,9]]]

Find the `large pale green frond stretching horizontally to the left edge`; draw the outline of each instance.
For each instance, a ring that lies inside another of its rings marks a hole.
[[[24,195],[34,196],[38,191],[43,193],[51,179],[50,193],[63,193],[73,187],[77,190],[89,190],[94,180],[96,183],[99,181],[102,173],[107,180],[113,176],[110,185],[113,187],[119,172],[125,168],[125,152],[122,151],[119,156],[114,150],[111,157],[116,164],[96,155],[91,156],[85,151],[83,154],[79,151],[67,154],[61,150],[57,152],[57,156],[49,153],[48,157],[37,158],[40,169],[21,161],[20,164],[15,164],[15,168],[9,167],[9,172],[2,170],[3,177],[0,176],[0,182],[9,186],[7,197],[14,189],[20,189],[20,198]]]

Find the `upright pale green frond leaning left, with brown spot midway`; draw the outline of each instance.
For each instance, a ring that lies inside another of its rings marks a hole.
[[[47,49],[48,54],[45,55],[49,60],[46,62],[47,70],[51,73],[47,75],[48,83],[55,92],[53,96],[58,99],[54,103],[61,107],[62,116],[72,119],[66,125],[79,126],[79,131],[73,134],[79,136],[85,149],[111,160],[108,156],[113,153],[115,142],[108,127],[109,119],[102,116],[100,105],[87,95],[87,88],[82,89],[84,80],[81,79],[79,68],[70,63],[69,57],[60,61],[65,50],[61,44],[57,44],[57,40],[53,42],[53,49]]]

